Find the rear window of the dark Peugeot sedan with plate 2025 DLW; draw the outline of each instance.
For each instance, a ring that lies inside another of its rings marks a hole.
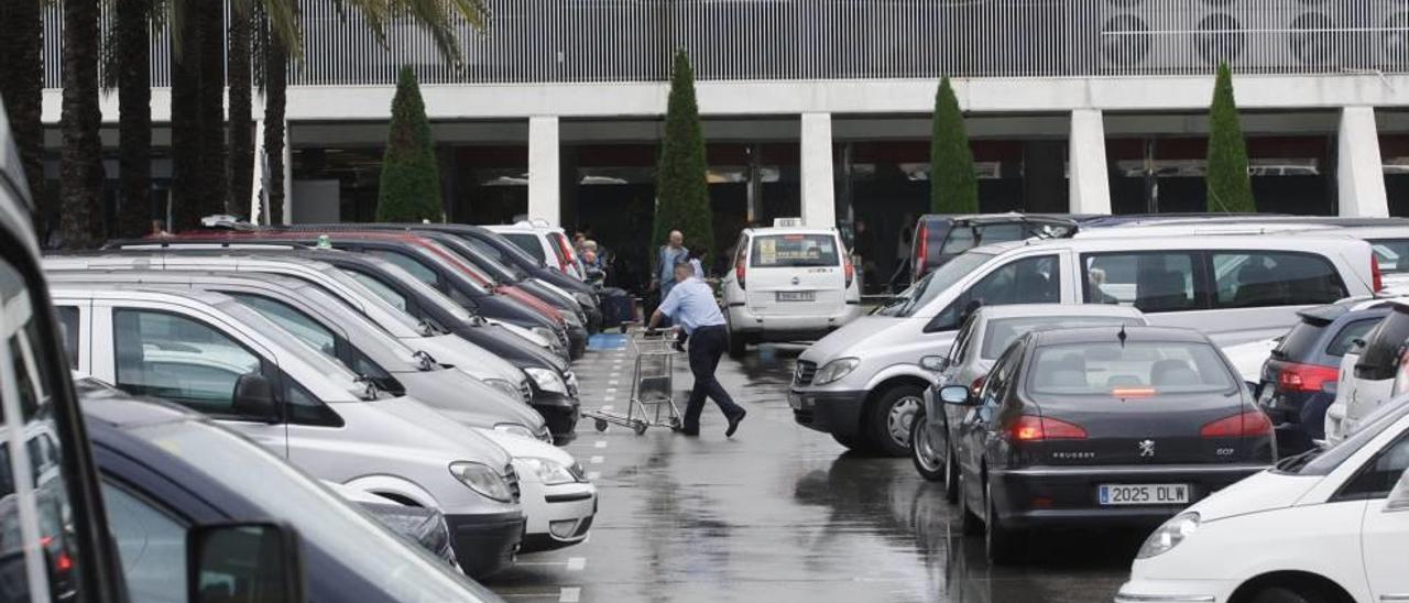
[[[1150,397],[1227,392],[1229,368],[1213,345],[1117,341],[1044,345],[1033,356],[1029,392],[1055,396]]]

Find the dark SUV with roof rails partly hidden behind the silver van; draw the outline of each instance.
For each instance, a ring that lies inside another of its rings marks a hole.
[[[914,268],[910,271],[910,280],[920,280],[975,247],[1038,235],[1062,238],[1074,234],[1076,234],[1075,220],[1062,214],[920,216],[910,249]]]

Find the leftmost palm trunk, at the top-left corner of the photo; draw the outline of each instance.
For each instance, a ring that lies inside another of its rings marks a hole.
[[[0,0],[0,99],[34,196],[34,230],[48,240],[58,216],[44,183],[42,0]]]

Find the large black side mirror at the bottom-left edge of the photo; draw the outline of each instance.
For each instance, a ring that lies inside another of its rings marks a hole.
[[[186,533],[190,603],[303,603],[299,535],[271,523],[199,526]]]

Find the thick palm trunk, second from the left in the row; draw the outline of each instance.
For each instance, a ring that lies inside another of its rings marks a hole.
[[[61,230],[70,249],[93,247],[101,228],[103,141],[99,127],[99,0],[63,3],[63,154],[59,163]]]

